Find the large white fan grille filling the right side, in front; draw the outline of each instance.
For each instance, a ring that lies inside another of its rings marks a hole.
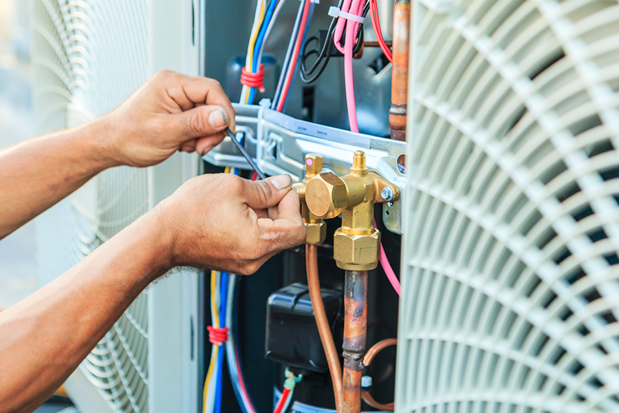
[[[398,412],[618,412],[617,1],[411,3]]]

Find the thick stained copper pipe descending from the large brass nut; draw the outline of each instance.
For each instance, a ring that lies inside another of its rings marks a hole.
[[[367,271],[346,271],[344,286],[343,413],[361,412],[361,377],[367,341]]]

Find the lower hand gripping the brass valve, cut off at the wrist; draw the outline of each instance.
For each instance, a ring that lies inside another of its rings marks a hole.
[[[252,274],[305,241],[290,176],[250,181],[230,173],[185,182],[152,213],[170,236],[171,264]]]

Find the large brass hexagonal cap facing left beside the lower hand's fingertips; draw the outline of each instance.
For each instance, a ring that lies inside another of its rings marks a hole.
[[[318,218],[335,218],[348,203],[346,184],[334,173],[320,173],[307,182],[305,202],[307,208]]]

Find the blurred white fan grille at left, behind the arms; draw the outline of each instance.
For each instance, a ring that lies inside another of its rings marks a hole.
[[[146,81],[146,0],[36,0],[32,25],[39,132],[105,114]],[[147,200],[146,171],[115,168],[50,209],[39,220],[41,281],[142,215]],[[148,411],[147,302],[140,295],[80,366],[116,412]]]

